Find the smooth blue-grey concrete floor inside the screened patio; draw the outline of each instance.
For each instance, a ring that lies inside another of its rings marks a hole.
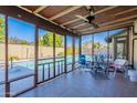
[[[75,70],[40,84],[20,97],[137,97],[137,83],[123,74],[109,79],[93,75],[91,70]]]

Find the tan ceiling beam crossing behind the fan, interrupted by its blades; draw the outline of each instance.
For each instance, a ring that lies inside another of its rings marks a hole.
[[[102,10],[96,11],[94,14],[103,13],[103,12],[108,11],[108,10],[112,10],[112,9],[114,9],[114,8],[116,8],[116,7],[118,7],[118,6],[107,7],[107,8],[105,8],[105,9],[102,9]],[[87,17],[87,14],[84,16],[84,17]],[[67,22],[62,23],[61,25],[71,24],[71,23],[76,22],[76,21],[78,21],[78,20],[80,20],[80,19],[73,19],[73,20],[70,20],[70,21],[67,21]]]

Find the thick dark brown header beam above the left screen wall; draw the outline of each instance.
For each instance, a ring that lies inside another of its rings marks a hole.
[[[67,29],[64,29],[62,27],[59,27],[56,23],[53,23],[49,20],[44,20],[43,18],[34,16],[33,13],[27,12],[15,6],[1,6],[0,13],[27,21],[29,23],[35,24],[36,27],[46,29],[49,31],[52,31],[59,34],[77,35],[77,33],[68,31]]]

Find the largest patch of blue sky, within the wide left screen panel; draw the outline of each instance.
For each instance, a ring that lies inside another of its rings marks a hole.
[[[13,18],[8,18],[9,38],[17,37],[18,39],[33,42],[34,31],[35,31],[34,25]]]

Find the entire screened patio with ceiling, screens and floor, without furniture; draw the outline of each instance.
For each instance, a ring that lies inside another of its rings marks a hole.
[[[137,96],[127,72],[114,76],[109,66],[124,59],[137,69],[136,12],[135,6],[0,7],[0,96]],[[107,76],[95,74],[95,56]]]

